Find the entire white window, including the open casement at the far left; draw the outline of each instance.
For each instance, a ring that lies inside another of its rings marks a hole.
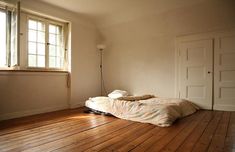
[[[0,70],[68,70],[68,24],[19,10],[0,2]]]

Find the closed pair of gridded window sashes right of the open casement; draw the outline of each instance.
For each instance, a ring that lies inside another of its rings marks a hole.
[[[63,69],[65,49],[63,24],[28,18],[28,67]]]

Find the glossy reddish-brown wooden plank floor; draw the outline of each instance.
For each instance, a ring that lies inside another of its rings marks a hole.
[[[235,151],[235,112],[199,111],[160,128],[64,110],[0,122],[0,151]]]

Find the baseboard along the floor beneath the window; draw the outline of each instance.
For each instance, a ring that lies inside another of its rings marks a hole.
[[[68,109],[68,108],[69,108],[68,105],[61,105],[61,106],[46,107],[46,108],[34,109],[34,110],[17,111],[17,112],[12,112],[12,113],[1,114],[0,120],[19,118],[19,117],[58,111],[58,110],[63,110],[63,109]]]

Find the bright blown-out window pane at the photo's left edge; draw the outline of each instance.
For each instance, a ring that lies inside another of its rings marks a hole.
[[[6,13],[0,12],[0,66],[6,66]]]

